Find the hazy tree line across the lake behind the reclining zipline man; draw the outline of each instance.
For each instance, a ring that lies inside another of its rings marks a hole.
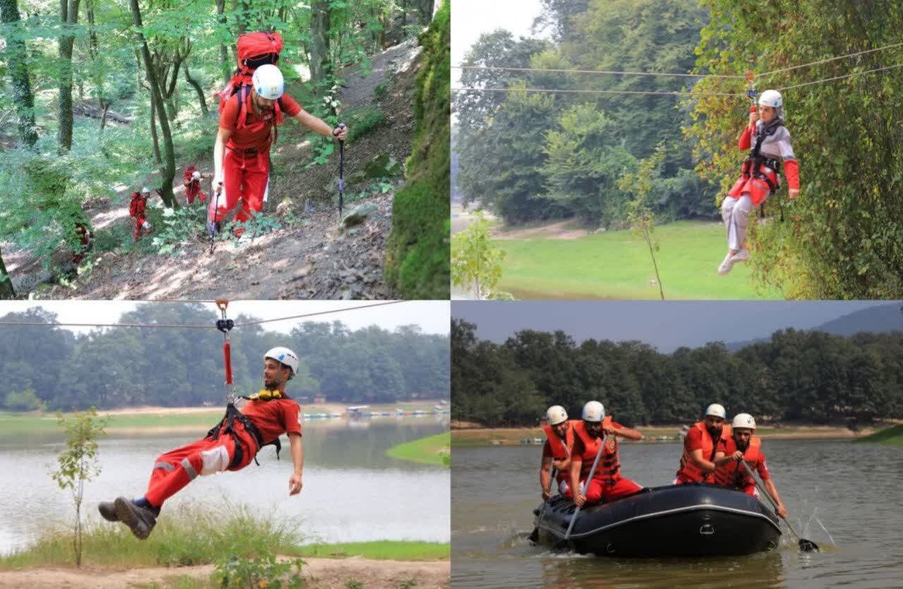
[[[216,313],[199,304],[147,304],[119,323],[209,325]],[[254,321],[238,315],[236,323]],[[54,323],[55,313],[32,308],[0,321]],[[263,388],[263,354],[286,346],[301,359],[288,384],[292,397],[325,395],[330,402],[392,403],[447,398],[449,339],[414,325],[300,323],[289,334],[260,325],[231,332],[239,395]],[[60,327],[0,326],[0,401],[5,408],[84,409],[135,405],[225,405],[223,336],[214,329],[105,328],[73,334]]]

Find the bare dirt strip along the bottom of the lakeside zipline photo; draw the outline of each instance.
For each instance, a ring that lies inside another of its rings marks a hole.
[[[283,560],[280,558],[280,560]],[[344,588],[358,581],[368,589],[418,587],[433,589],[450,586],[449,561],[406,562],[398,560],[368,560],[367,558],[304,558],[303,579],[313,587]],[[213,565],[178,566],[172,568],[62,568],[40,567],[19,571],[4,571],[0,575],[0,588],[67,587],[69,589],[122,589],[123,587],[147,587],[151,584],[170,586],[175,577],[191,576],[198,580],[209,579]],[[412,583],[413,582],[413,583]],[[185,586],[180,584],[179,586]]]

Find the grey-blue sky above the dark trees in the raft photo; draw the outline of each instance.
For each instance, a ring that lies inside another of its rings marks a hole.
[[[482,340],[503,342],[514,332],[563,330],[590,338],[645,341],[670,353],[709,341],[768,338],[779,329],[810,329],[879,302],[839,301],[454,301],[452,317],[476,323]]]

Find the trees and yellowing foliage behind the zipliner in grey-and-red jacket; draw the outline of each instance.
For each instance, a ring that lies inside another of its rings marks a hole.
[[[656,220],[719,219],[740,173],[737,138],[749,115],[747,70],[758,92],[784,88],[802,192],[782,188],[752,229],[757,280],[790,298],[898,297],[903,292],[903,127],[897,113],[898,3],[800,0],[543,0],[536,27],[551,40],[483,34],[464,65],[540,70],[718,74],[737,79],[462,70],[456,180],[465,202],[508,224],[574,218],[628,225],[619,179],[664,149],[652,176]],[[850,77],[848,74],[854,74]],[[841,79],[841,77],[843,77]],[[832,79],[811,84],[818,80]],[[803,86],[805,85],[805,86]],[[533,93],[526,89],[694,91],[694,96]],[[855,251],[855,256],[849,252]]]

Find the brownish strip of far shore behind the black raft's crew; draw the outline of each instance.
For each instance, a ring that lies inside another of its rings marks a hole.
[[[664,425],[651,427],[638,427],[637,431],[646,438],[644,442],[678,442],[680,437],[679,425]],[[866,430],[867,431],[867,430]],[[759,427],[756,435],[762,439],[842,439],[861,435],[846,427],[834,427],[830,425],[790,425],[780,427]],[[667,436],[667,440],[656,440],[656,437]],[[523,439],[542,438],[545,433],[540,427],[498,427],[498,428],[472,428],[452,430],[452,446],[487,446],[487,445],[517,445]],[[903,442],[903,438],[901,438]]]

